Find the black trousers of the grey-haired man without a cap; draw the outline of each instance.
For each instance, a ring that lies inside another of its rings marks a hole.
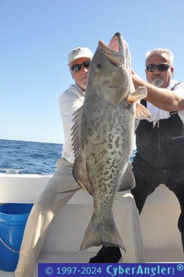
[[[153,193],[160,184],[165,184],[178,198],[181,206],[178,229],[181,233],[184,251],[184,163],[174,168],[152,168],[137,155],[132,165],[136,187],[131,190],[131,193],[134,195],[139,213],[142,211],[147,196]],[[97,256],[91,258],[89,262],[111,263],[118,262],[120,258],[121,253],[118,247],[102,247]]]

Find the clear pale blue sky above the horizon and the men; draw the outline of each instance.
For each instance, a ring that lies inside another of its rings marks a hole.
[[[68,52],[120,32],[145,80],[145,52],[174,53],[184,80],[183,0],[0,0],[0,139],[63,143],[58,98],[73,83]]]

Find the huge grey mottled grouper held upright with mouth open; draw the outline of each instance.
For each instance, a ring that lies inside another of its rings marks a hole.
[[[93,196],[93,216],[80,251],[92,246],[125,249],[113,219],[116,190],[134,188],[131,157],[134,121],[149,117],[140,103],[147,89],[134,91],[130,54],[120,33],[109,46],[99,41],[91,61],[84,105],[74,114],[73,177]]]

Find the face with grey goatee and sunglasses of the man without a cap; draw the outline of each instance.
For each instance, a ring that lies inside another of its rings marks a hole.
[[[155,71],[149,72],[145,69],[147,82],[150,84],[154,84],[156,87],[166,88],[169,86],[172,78],[172,73],[174,72],[174,68],[170,66],[167,61],[167,57],[165,55],[152,55],[147,60],[147,66],[154,67],[154,65],[161,64],[160,68],[156,68]],[[168,64],[169,68],[166,71],[162,71],[162,64]]]

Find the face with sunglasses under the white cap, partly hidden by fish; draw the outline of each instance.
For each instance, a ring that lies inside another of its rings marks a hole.
[[[80,59],[75,60],[69,65],[72,78],[73,80],[75,80],[75,83],[82,89],[82,91],[86,91],[86,84],[89,73],[88,64],[90,61],[91,59],[89,59],[89,57],[81,57]],[[72,67],[75,65],[79,65],[76,67],[77,71],[75,71],[75,67],[74,70],[72,70]]]

